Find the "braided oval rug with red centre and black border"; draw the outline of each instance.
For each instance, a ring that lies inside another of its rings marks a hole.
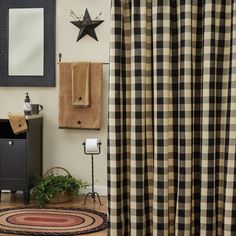
[[[83,208],[20,207],[0,210],[0,233],[81,235],[107,228],[107,214]]]

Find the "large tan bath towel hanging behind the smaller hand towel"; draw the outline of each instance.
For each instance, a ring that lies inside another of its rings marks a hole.
[[[90,106],[72,106],[71,63],[60,63],[59,128],[100,129],[102,114],[102,64],[90,63]]]

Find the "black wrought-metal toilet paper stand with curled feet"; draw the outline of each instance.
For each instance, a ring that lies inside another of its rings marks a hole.
[[[89,193],[86,194],[86,197],[85,197],[85,200],[84,200],[84,205],[86,204],[87,198],[88,198],[89,195],[91,195],[91,197],[92,197],[92,199],[93,199],[93,201],[95,203],[95,200],[96,200],[95,198],[96,198],[96,195],[97,195],[99,204],[100,204],[100,206],[102,206],[99,194],[94,191],[94,161],[93,161],[93,156],[100,154],[102,143],[100,141],[98,141],[97,145],[98,145],[98,152],[90,153],[90,152],[86,152],[86,142],[85,141],[83,142],[84,154],[85,155],[91,155],[91,169],[92,169],[92,192],[89,192]]]

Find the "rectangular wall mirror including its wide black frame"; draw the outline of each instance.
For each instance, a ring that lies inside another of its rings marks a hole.
[[[55,0],[0,0],[0,86],[55,86]]]

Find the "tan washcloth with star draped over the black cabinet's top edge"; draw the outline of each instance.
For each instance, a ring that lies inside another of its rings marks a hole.
[[[24,115],[9,113],[8,117],[14,134],[19,134],[28,130],[28,125]]]

